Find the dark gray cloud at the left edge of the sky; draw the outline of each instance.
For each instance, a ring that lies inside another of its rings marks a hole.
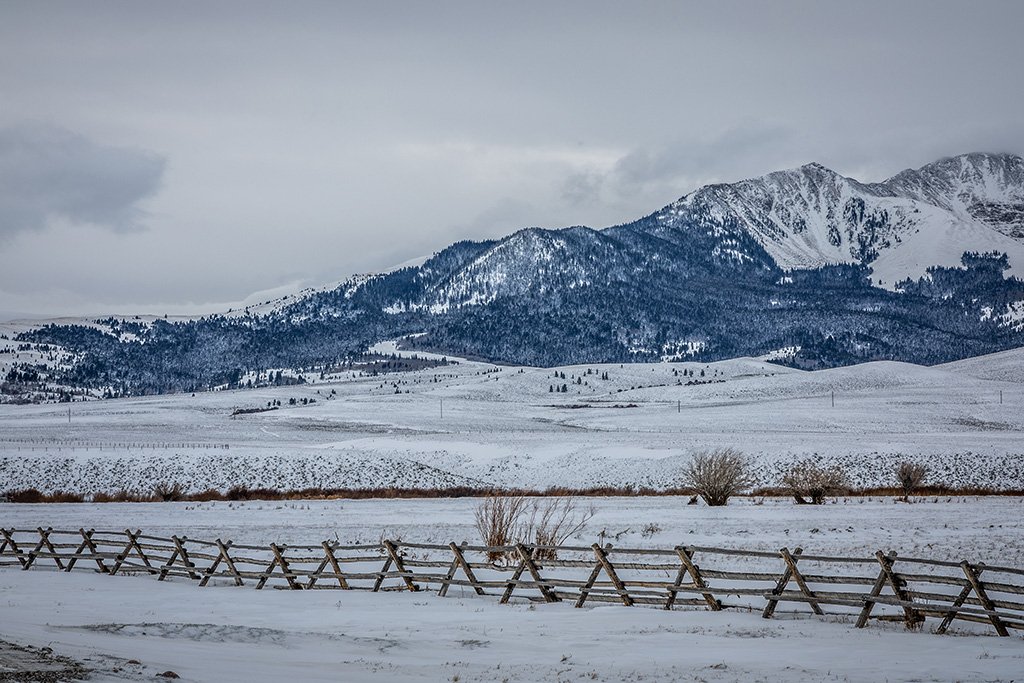
[[[98,144],[56,126],[0,129],[0,238],[53,220],[127,232],[142,228],[138,204],[160,187],[165,160]]]

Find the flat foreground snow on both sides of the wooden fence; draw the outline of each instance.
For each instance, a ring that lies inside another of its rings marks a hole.
[[[1024,562],[1024,500],[838,499],[797,506],[744,499],[727,508],[685,499],[595,499],[573,542],[715,545],[807,554]],[[0,505],[0,525],[141,527],[238,542],[477,540],[476,502]],[[651,531],[650,525],[657,527]],[[604,535],[602,536],[602,531]],[[791,611],[793,610],[793,611]],[[1019,633],[901,625],[853,628],[783,605],[759,611],[665,611],[614,605],[501,605],[453,588],[429,593],[255,591],[150,577],[0,569],[0,638],[48,645],[97,670],[94,680],[189,681],[1011,681],[1024,670]],[[128,660],[137,664],[129,664]],[[115,671],[115,670],[120,671]]]

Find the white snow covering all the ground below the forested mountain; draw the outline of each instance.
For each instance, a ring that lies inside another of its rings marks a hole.
[[[398,342],[374,350],[399,355]],[[451,358],[450,358],[451,359]],[[873,362],[802,372],[763,359],[557,369],[458,365],[308,385],[0,407],[3,488],[208,486],[667,486],[693,452],[734,446],[762,483],[797,459],[891,484],[901,459],[930,478],[1024,487],[1024,349],[936,368]],[[683,376],[682,371],[687,371]],[[568,393],[554,393],[556,382]],[[561,374],[565,380],[561,380]],[[607,373],[609,379],[599,379]],[[691,376],[692,373],[692,376]],[[581,383],[577,384],[579,380]],[[703,382],[690,384],[687,382]],[[395,387],[403,393],[395,394]],[[404,391],[409,393],[404,393]],[[835,391],[836,405],[831,405]],[[1004,402],[999,402],[1002,392]],[[289,398],[316,403],[290,407]],[[280,399],[281,410],[231,416]],[[443,407],[443,417],[441,408]],[[142,528],[292,544],[478,540],[473,499],[0,504],[0,526]],[[572,539],[1024,566],[1024,500],[595,498]],[[733,561],[733,560],[727,560]],[[740,562],[742,560],[735,560]],[[797,607],[792,609],[796,610]],[[1012,680],[1020,634],[947,636],[781,609],[665,611],[501,605],[430,593],[255,591],[148,577],[0,568],[0,639],[86,661],[92,680],[879,681]],[[990,631],[990,630],[989,630]],[[140,664],[129,664],[129,659]],[[117,671],[116,671],[117,670]]]

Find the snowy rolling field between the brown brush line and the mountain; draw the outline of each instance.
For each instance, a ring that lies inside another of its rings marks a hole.
[[[913,459],[934,483],[1024,488],[1021,368],[1020,349],[936,368],[813,373],[750,358],[558,369],[462,361],[79,402],[70,415],[67,404],[0,405],[0,485],[666,487],[693,452],[731,446],[765,485],[802,458],[842,464],[854,485],[891,485],[894,465]],[[232,416],[270,401],[281,409]]]

